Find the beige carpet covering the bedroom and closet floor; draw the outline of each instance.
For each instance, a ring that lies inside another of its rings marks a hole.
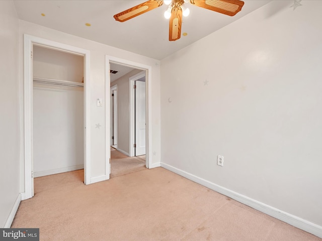
[[[13,228],[38,227],[40,240],[322,239],[164,168],[91,185],[83,172],[35,178]]]

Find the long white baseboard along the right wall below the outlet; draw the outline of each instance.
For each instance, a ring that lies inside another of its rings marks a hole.
[[[312,233],[312,234],[322,238],[322,226],[319,226],[315,223],[309,222],[309,221],[304,220],[300,217],[297,217],[297,216],[294,216],[290,213],[279,210],[275,207],[269,206],[265,203],[259,202],[255,199],[250,198],[250,197],[241,195],[241,194],[231,191],[227,188],[221,187],[217,184],[214,184],[214,183],[209,182],[205,179],[202,179],[200,177],[192,175],[192,174],[185,172],[183,170],[180,170],[176,167],[170,166],[166,163],[161,163],[161,167],[163,167],[169,171],[172,171],[180,176],[183,176],[191,181],[199,183],[205,187],[208,187],[209,189],[219,192],[225,196],[231,197],[232,199],[234,199],[238,202],[244,203],[244,204],[246,204],[250,207],[253,207],[254,209],[257,209],[261,212],[264,212],[272,217],[275,217],[279,220],[287,222],[287,223],[291,224],[292,226],[295,226],[297,228],[300,228],[304,231],[307,231],[309,233]]]

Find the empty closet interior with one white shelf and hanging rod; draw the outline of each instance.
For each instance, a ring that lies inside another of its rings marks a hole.
[[[84,168],[84,56],[33,48],[34,177]]]

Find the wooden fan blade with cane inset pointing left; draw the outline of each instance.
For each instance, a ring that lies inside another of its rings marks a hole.
[[[114,19],[119,22],[124,22],[148,11],[156,9],[161,5],[163,5],[163,0],[149,0],[147,2],[144,2],[143,4],[139,4],[133,8],[114,15]]]

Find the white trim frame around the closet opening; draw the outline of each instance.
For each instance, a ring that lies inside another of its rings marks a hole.
[[[90,51],[31,35],[24,35],[24,144],[25,192],[22,200],[34,196],[33,178],[33,46],[84,56],[84,182],[91,183]]]

